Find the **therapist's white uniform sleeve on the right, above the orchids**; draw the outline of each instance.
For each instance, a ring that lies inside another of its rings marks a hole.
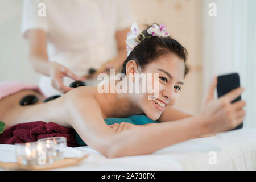
[[[133,24],[135,19],[133,12],[131,11],[129,2],[127,2],[126,0],[119,0],[117,8],[117,30],[130,28],[131,24]]]

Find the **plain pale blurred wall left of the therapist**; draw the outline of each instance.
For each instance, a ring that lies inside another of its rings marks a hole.
[[[28,61],[28,42],[20,35],[22,1],[0,1],[0,81],[38,84]]]

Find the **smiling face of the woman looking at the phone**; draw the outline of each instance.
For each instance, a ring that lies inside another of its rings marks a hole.
[[[174,105],[179,98],[183,86],[185,63],[179,56],[170,53],[159,57],[158,60],[146,65],[140,73],[152,74],[152,86],[154,88],[154,73],[158,73],[159,85],[154,93],[135,94],[135,101],[143,112],[152,120],[159,119],[164,110]],[[147,75],[148,76],[148,75]],[[147,77],[148,79],[148,77]],[[150,96],[155,97],[150,100]]]

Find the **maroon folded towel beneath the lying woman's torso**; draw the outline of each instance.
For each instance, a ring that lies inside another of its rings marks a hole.
[[[47,137],[66,137],[68,147],[79,146],[76,142],[75,130],[60,126],[53,122],[27,122],[9,127],[0,134],[1,144],[35,142]]]

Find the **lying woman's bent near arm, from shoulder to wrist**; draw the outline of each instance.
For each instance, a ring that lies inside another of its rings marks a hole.
[[[151,154],[172,144],[196,138],[203,132],[197,116],[115,132],[104,122],[100,106],[94,98],[86,98],[79,88],[65,95],[69,95],[67,114],[72,127],[88,146],[108,158]]]

